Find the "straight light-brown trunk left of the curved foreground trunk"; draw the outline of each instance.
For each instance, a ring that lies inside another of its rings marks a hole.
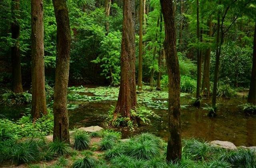
[[[43,0],[31,0],[32,118],[46,115]]]

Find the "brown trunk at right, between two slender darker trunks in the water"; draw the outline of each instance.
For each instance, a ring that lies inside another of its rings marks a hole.
[[[209,31],[208,37],[212,37],[212,20],[208,21]],[[203,95],[210,96],[210,57],[211,57],[211,47],[209,46],[206,50],[204,57],[204,75],[202,81],[202,91]]]

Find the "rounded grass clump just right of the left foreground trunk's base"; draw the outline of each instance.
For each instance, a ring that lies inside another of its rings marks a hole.
[[[84,131],[74,133],[74,148],[77,150],[88,149],[90,145],[90,137]]]

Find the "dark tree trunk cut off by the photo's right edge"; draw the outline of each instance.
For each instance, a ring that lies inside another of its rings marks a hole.
[[[254,28],[252,76],[247,102],[254,105],[256,104],[256,23]]]

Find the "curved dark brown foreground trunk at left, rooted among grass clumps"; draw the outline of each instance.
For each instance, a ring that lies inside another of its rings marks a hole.
[[[71,43],[70,24],[66,0],[52,0],[52,2],[57,23],[53,140],[69,143],[67,94]]]

